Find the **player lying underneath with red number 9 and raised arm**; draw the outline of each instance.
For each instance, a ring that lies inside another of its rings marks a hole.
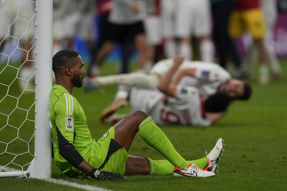
[[[158,84],[161,92],[133,87],[129,95],[132,111],[144,111],[158,125],[210,126],[225,115],[230,103],[229,97],[215,93],[201,99],[197,88],[171,84],[170,79],[182,61],[183,57],[175,57],[173,66],[161,77]],[[123,118],[123,115],[111,115],[113,112],[104,112],[102,121],[116,123]]]

